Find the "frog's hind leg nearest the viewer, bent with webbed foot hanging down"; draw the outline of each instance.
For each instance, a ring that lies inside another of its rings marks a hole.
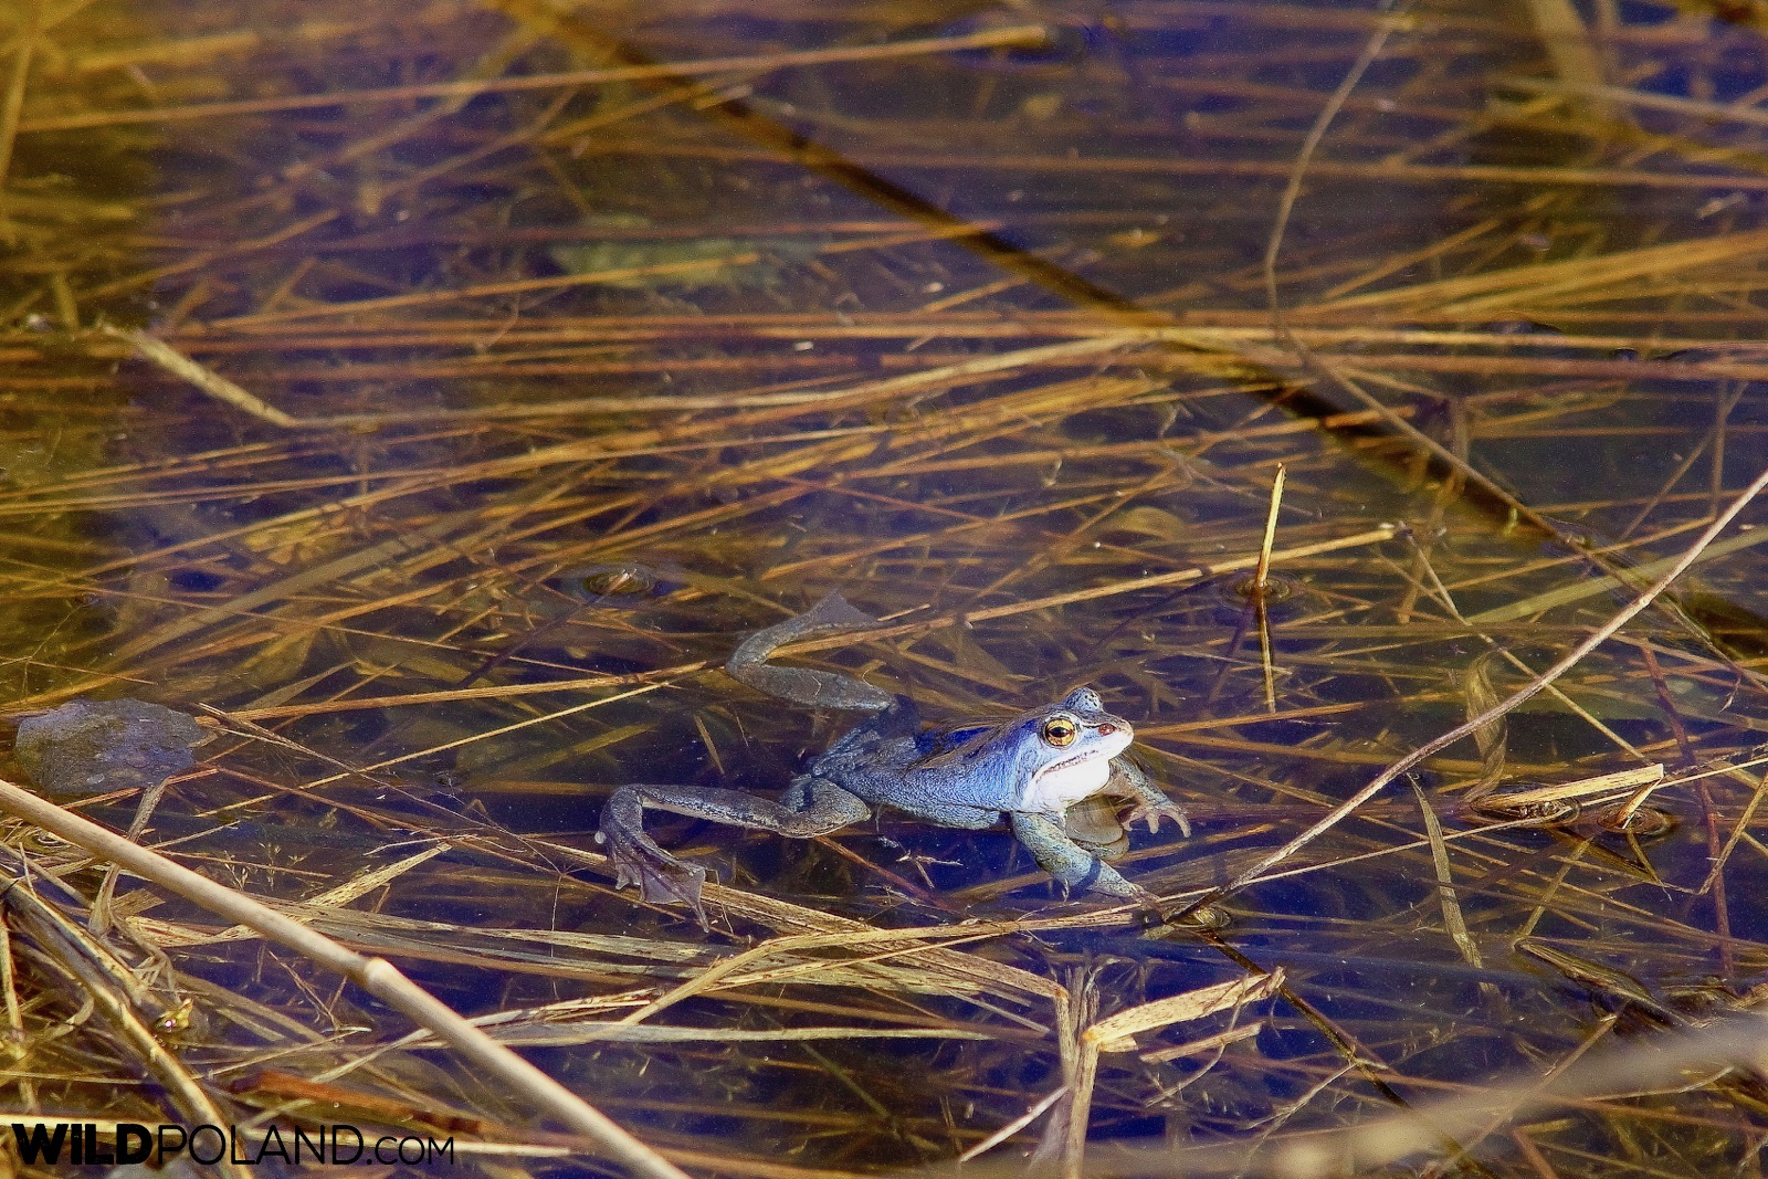
[[[794,840],[827,834],[872,815],[872,808],[865,801],[826,778],[804,778],[794,781],[792,787],[792,801],[803,801],[799,808],[781,806],[744,790],[720,790],[716,787],[651,787],[640,783],[621,787],[608,795],[608,802],[601,808],[601,831],[596,833],[596,841],[606,843],[608,859],[613,861],[613,887],[622,889],[628,884],[636,884],[647,901],[690,905],[705,924],[705,910],[700,907],[705,868],[677,859],[658,847],[656,840],[647,836],[644,829],[645,808],[773,831]]]

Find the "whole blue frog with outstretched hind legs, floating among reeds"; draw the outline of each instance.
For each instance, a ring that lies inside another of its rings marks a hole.
[[[1070,817],[1070,808],[1086,799],[1123,797],[1133,804],[1124,822],[1146,818],[1155,831],[1165,815],[1190,834],[1185,810],[1119,757],[1135,737],[1128,721],[1107,712],[1098,693],[1080,688],[999,725],[921,732],[907,696],[849,675],[767,663],[789,642],[872,626],[879,626],[877,619],[829,594],[810,612],[757,631],[737,647],[725,670],[751,688],[812,707],[873,716],[812,758],[780,802],[714,787],[617,788],[601,811],[596,836],[608,847],[615,887],[636,884],[649,901],[688,903],[704,923],[705,868],[658,847],[642,827],[645,808],[804,840],[856,824],[872,815],[872,806],[889,806],[941,827],[992,827],[1006,817],[1038,866],[1066,887],[1149,900],[1100,859],[1121,850],[1123,825],[1084,831],[1084,817]]]

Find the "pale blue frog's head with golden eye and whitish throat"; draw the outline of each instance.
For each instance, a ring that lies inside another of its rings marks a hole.
[[[1098,794],[1110,778],[1110,760],[1135,739],[1130,721],[1107,712],[1091,688],[1025,712],[1008,734],[1020,780],[1018,806],[1045,813],[1066,811]]]

